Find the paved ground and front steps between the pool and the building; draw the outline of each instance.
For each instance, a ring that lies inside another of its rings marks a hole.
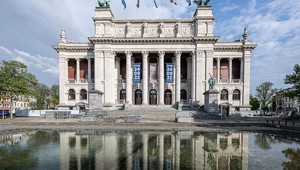
[[[104,115],[115,116],[116,122],[104,122],[98,118],[96,122],[81,122],[80,118],[45,119],[41,117],[26,117],[0,120],[0,131],[20,128],[99,128],[99,129],[151,129],[151,130],[246,130],[274,131],[300,134],[300,121],[285,121],[272,117],[229,117],[221,119],[203,113],[190,111],[195,117],[194,123],[175,122],[176,111],[108,111]],[[125,123],[124,116],[139,115],[138,123]],[[267,120],[268,124],[267,124]],[[273,120],[273,121],[272,121]],[[280,122],[278,122],[280,121]]]

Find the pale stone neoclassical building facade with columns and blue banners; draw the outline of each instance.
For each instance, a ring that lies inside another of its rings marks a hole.
[[[103,106],[204,104],[207,80],[216,79],[218,103],[249,108],[251,52],[247,29],[241,39],[219,42],[212,7],[191,19],[117,20],[96,8],[94,37],[66,39],[54,49],[59,59],[60,108],[88,108],[88,92],[103,92]]]

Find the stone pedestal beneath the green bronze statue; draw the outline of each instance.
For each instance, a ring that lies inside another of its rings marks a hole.
[[[216,89],[210,89],[203,93],[205,96],[204,110],[209,114],[219,114],[218,94]]]

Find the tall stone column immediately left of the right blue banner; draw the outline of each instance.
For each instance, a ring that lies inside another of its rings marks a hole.
[[[164,105],[164,57],[165,52],[159,51],[159,105]]]

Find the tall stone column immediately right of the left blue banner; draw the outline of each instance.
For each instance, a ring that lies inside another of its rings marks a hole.
[[[148,51],[143,51],[143,105],[148,105]]]

